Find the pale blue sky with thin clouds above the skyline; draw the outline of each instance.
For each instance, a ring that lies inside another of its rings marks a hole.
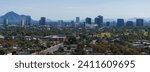
[[[150,18],[150,0],[0,0],[0,15],[9,11],[44,16],[52,20],[70,20],[76,16],[94,18]]]

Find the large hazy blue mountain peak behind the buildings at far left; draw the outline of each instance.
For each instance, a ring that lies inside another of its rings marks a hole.
[[[0,23],[3,23],[4,19],[8,19],[9,23],[18,24],[21,22],[21,20],[26,21],[29,18],[30,18],[30,16],[28,16],[28,15],[19,15],[15,12],[11,11],[0,17]],[[32,19],[31,19],[31,21],[32,21]]]

